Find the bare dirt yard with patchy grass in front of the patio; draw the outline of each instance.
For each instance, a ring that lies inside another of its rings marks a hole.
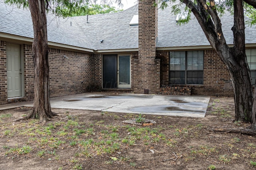
[[[249,126],[234,122],[233,98],[212,96],[204,118],[52,109],[46,124],[13,121],[31,109],[0,111],[2,170],[256,169],[256,137],[209,130]],[[156,123],[122,123],[132,118]]]

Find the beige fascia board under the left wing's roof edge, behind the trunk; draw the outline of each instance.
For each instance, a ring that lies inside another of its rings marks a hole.
[[[6,34],[6,33],[0,33],[0,38],[2,38],[5,41],[10,41],[10,42],[14,42],[14,43],[24,43],[24,42],[26,42],[26,43],[29,43],[29,44],[32,44],[33,40],[34,40],[33,38],[22,37],[22,36]],[[54,43],[54,42],[50,42],[50,41],[48,41],[48,45],[49,45],[49,47],[61,48],[61,49],[66,49],[66,50],[69,49],[69,50],[72,50],[72,51],[84,51],[84,52],[91,52],[91,53],[94,52],[93,49],[75,47],[75,46],[72,46],[72,45]]]

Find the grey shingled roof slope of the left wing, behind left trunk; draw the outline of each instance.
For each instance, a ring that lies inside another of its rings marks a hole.
[[[33,38],[33,24],[29,9],[9,6],[0,1],[0,33]],[[93,49],[81,28],[71,18],[47,14],[48,41],[74,47]]]

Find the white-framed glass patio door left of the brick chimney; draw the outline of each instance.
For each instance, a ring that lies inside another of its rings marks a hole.
[[[130,55],[118,55],[118,88],[131,88]]]

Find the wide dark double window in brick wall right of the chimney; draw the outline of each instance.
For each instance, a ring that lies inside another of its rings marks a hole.
[[[170,84],[203,84],[204,51],[170,52]]]

